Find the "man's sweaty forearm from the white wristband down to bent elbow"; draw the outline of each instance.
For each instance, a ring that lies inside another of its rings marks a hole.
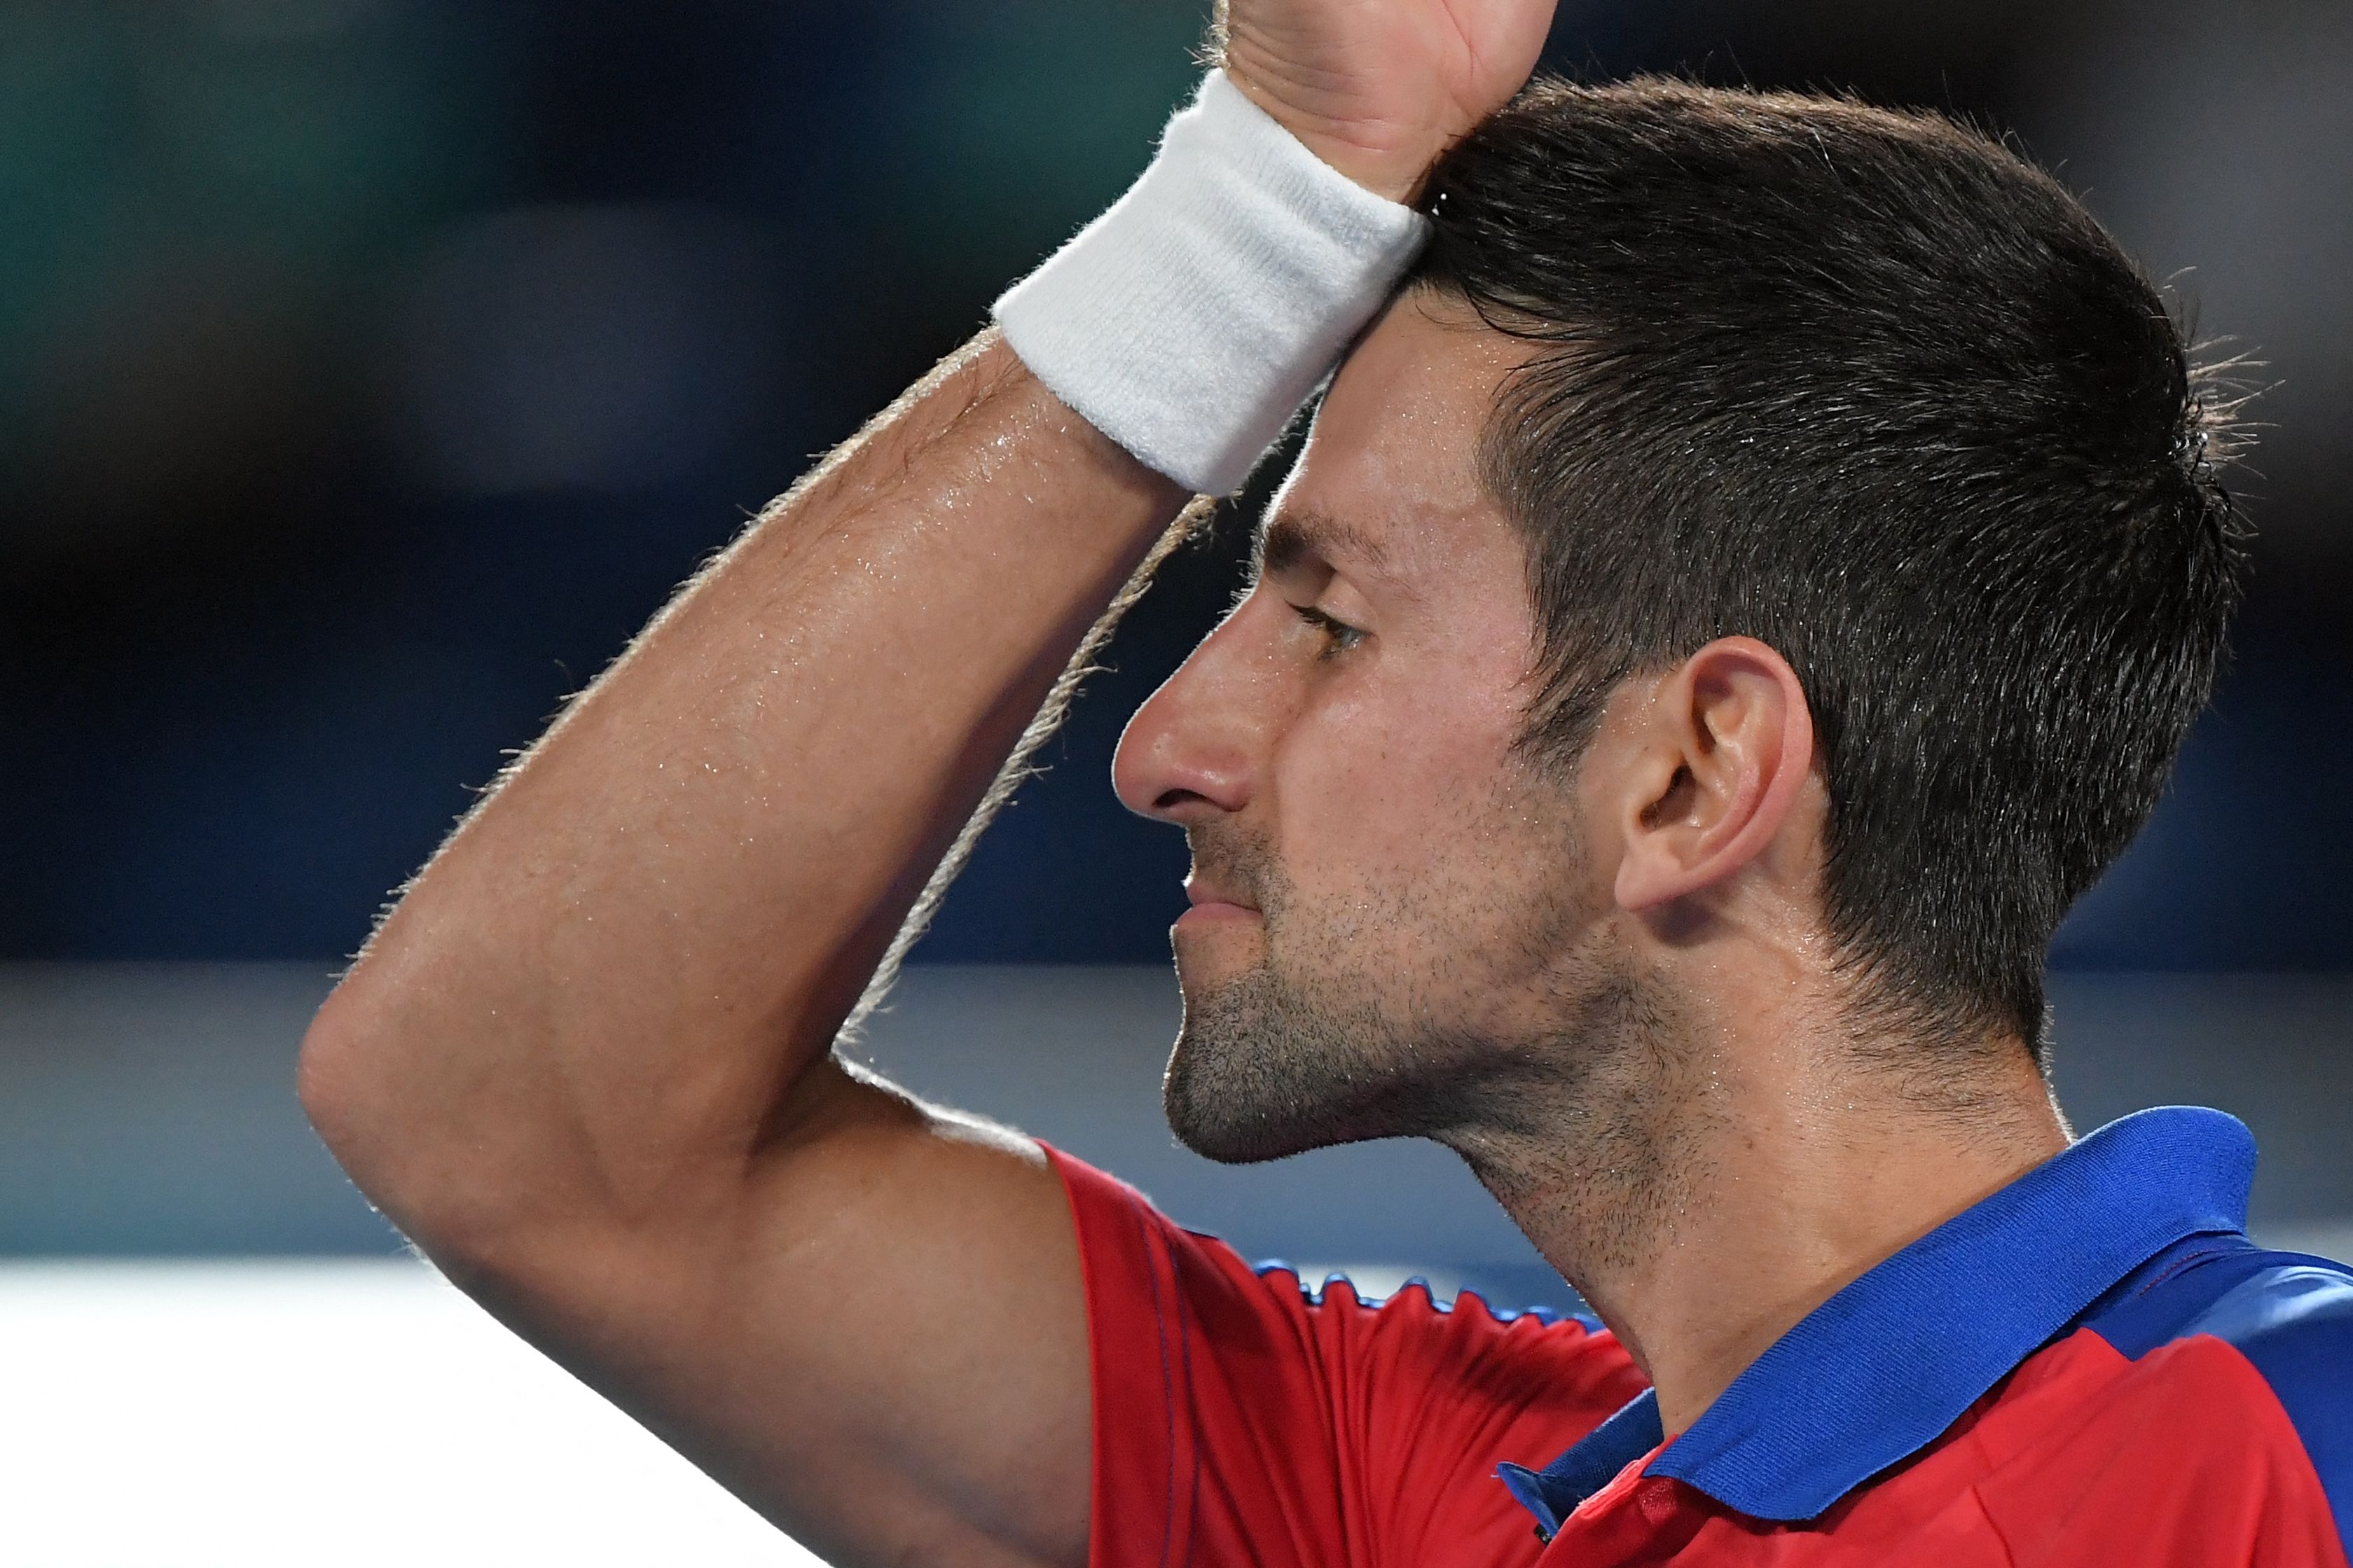
[[[464,1229],[739,1173],[1181,501],[991,336],[769,508],[313,1027],[304,1095],[362,1187]]]

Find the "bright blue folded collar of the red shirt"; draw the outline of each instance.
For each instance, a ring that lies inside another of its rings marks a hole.
[[[2240,1232],[2254,1138],[2217,1110],[2111,1121],[1887,1258],[1774,1340],[1642,1474],[1805,1521],[1937,1441],[2019,1361],[2184,1237]],[[1546,1535],[1661,1441],[1642,1394],[1504,1483]]]

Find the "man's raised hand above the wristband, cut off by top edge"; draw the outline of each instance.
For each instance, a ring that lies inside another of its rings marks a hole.
[[[1553,0],[1217,0],[1219,63],[1327,165],[1393,202],[1527,82]]]

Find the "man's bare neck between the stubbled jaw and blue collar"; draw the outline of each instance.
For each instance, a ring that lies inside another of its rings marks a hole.
[[[1612,1009],[1642,1027],[1579,1030],[1541,1110],[1447,1138],[1642,1366],[1671,1434],[1840,1286],[2068,1143],[2019,1041],[1922,1093],[1885,1065],[1901,1053],[1802,999],[1680,1011]]]

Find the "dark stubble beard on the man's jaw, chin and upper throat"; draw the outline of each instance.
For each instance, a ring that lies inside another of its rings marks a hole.
[[[1266,938],[1257,964],[1186,987],[1162,1093],[1179,1143],[1257,1164],[1431,1138],[1588,1293],[1673,1241],[1711,1180],[1713,1079],[1666,983],[1558,893],[1574,860],[1555,893],[1522,882],[1520,907],[1485,919],[1393,898],[1377,924],[1412,929],[1424,957],[1369,969],[1360,926],[1304,912],[1264,844],[1202,849],[1261,900]],[[1515,938],[1480,950],[1473,929]]]

